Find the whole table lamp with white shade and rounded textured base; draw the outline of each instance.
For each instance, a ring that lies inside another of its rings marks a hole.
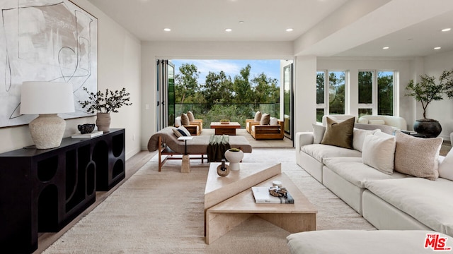
[[[28,125],[36,148],[59,147],[66,121],[57,114],[69,112],[74,112],[71,84],[45,81],[22,83],[21,114],[39,114]]]

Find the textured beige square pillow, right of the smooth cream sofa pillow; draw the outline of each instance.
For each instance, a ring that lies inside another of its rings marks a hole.
[[[415,138],[396,131],[395,170],[411,176],[435,180],[443,138]]]

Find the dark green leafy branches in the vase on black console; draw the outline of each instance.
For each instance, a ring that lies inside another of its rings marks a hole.
[[[115,92],[105,89],[105,94],[101,91],[89,92],[86,87],[84,91],[88,93],[88,99],[84,102],[79,101],[82,105],[82,109],[86,108],[88,113],[110,113],[117,112],[117,109],[120,109],[122,106],[132,105],[130,101],[129,92],[126,92],[126,88],[123,87],[122,90],[116,90]]]

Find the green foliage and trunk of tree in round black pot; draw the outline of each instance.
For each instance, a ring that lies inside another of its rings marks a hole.
[[[414,83],[410,80],[406,86],[409,92],[406,96],[412,96],[417,102],[421,102],[423,107],[423,118],[426,119],[426,108],[432,101],[453,97],[453,69],[443,71],[439,77],[439,83],[435,83],[436,78],[430,75],[420,75],[420,82]]]

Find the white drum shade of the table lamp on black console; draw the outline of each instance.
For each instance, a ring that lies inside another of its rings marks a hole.
[[[22,83],[21,114],[58,114],[74,111],[71,84],[46,81]]]

